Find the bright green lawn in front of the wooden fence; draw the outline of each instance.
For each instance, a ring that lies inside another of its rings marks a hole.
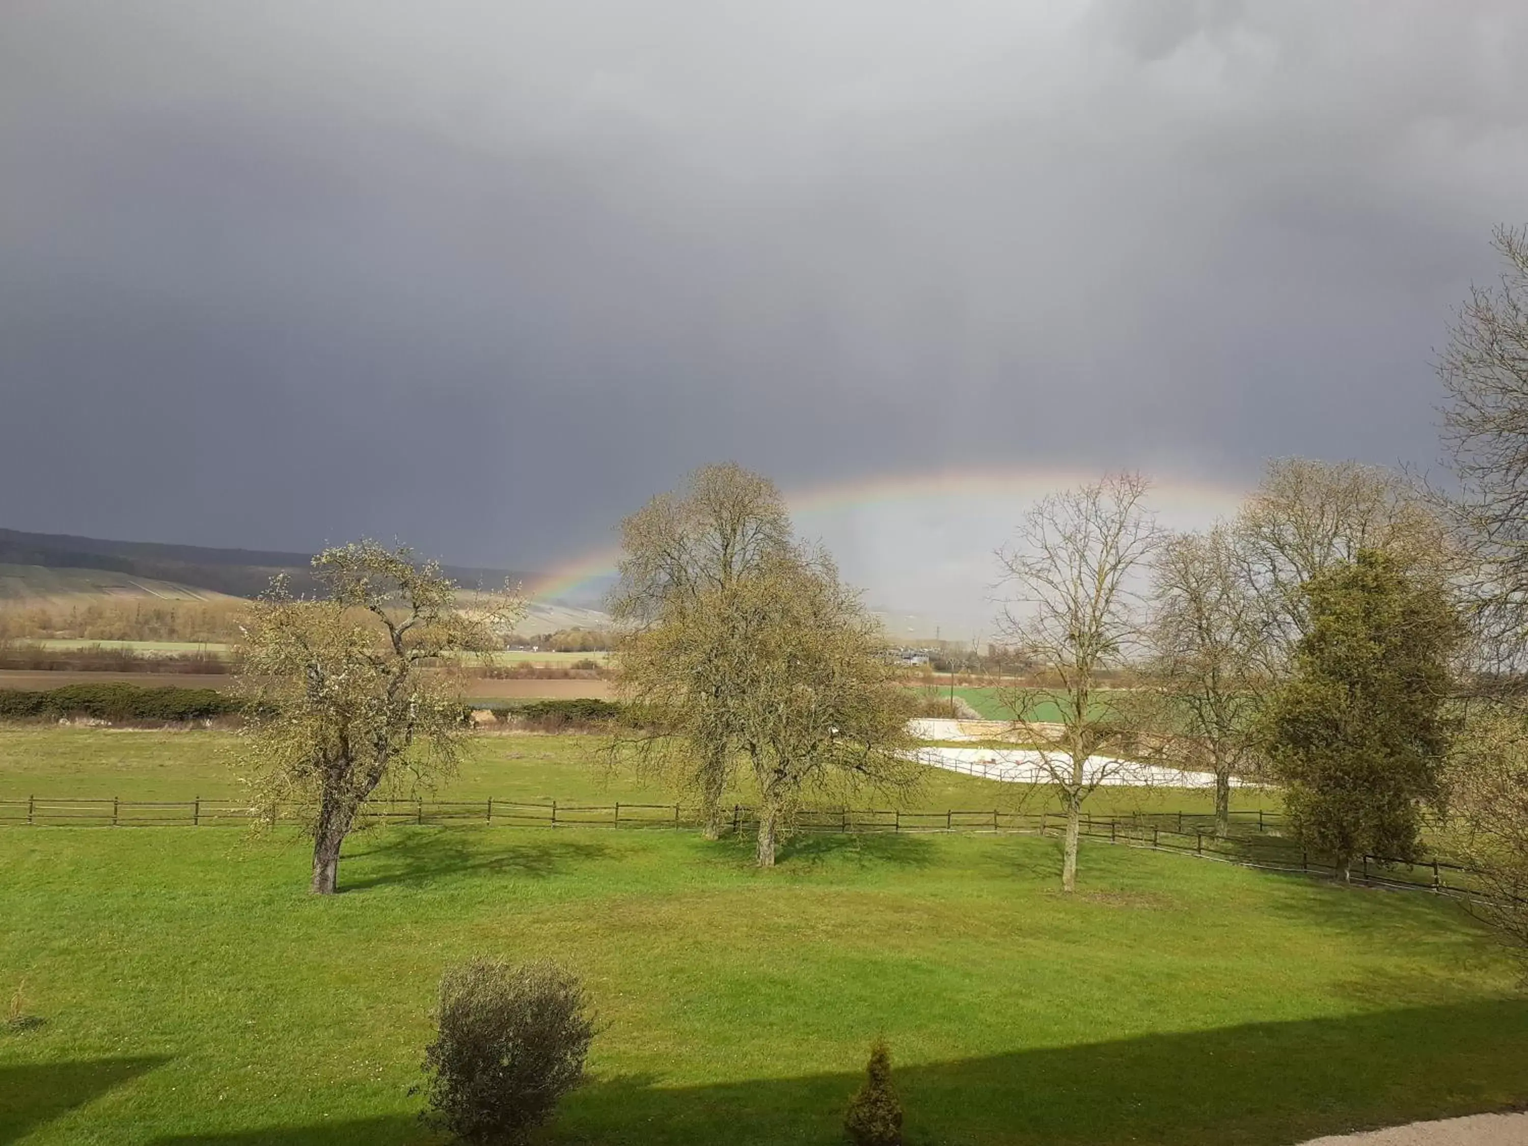
[[[0,1141],[435,1141],[442,967],[599,1010],[547,1143],[842,1141],[885,1034],[911,1146],[1285,1146],[1528,1099],[1528,1002],[1453,903],[1054,840],[390,828],[344,892],[238,831],[0,831]]]

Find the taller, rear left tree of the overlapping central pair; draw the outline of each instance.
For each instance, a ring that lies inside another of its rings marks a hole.
[[[640,743],[642,758],[697,792],[707,839],[720,833],[720,801],[736,749],[724,695],[730,646],[711,649],[715,671],[680,675],[683,662],[671,656],[671,645],[694,631],[685,617],[703,596],[724,597],[790,545],[779,489],[732,463],[697,469],[681,489],[660,494],[622,523],[620,582],[610,599],[611,616],[625,630],[616,683],[628,700],[680,718]],[[648,636],[665,625],[671,628]]]

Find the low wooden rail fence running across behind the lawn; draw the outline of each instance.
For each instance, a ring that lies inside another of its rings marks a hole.
[[[293,808],[295,811],[296,808]],[[237,827],[257,819],[240,801],[134,801],[28,796],[0,799],[0,827]],[[500,798],[478,801],[368,801],[358,816],[362,825],[417,824],[437,827],[602,827],[602,828],[688,828],[698,827],[698,808],[680,804],[565,804]],[[756,827],[756,808],[732,807],[729,827],[741,833]],[[900,808],[804,808],[796,813],[796,830],[805,833],[990,833],[1059,836],[1067,817],[1059,811],[1004,811],[1001,808],[946,808],[944,811],[905,811]],[[1265,811],[1233,811],[1230,831],[1218,836],[1215,816],[1199,811],[1152,811],[1129,816],[1091,816],[1083,813],[1079,833],[1091,840],[1122,847],[1152,848],[1199,859],[1221,860],[1264,871],[1288,871],[1339,877],[1342,869],[1329,859],[1303,850],[1282,834],[1284,816]],[[1369,886],[1433,891],[1447,895],[1478,897],[1484,888],[1476,872],[1441,859],[1406,862],[1380,856],[1354,860],[1351,877]]]

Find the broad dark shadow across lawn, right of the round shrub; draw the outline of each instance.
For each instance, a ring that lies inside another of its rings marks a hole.
[[[892,1053],[917,1053],[909,1042]],[[842,1140],[860,1063],[717,1086],[596,1083],[550,1141]],[[1475,1001],[895,1068],[908,1144],[1288,1146],[1528,1099],[1528,1002]]]

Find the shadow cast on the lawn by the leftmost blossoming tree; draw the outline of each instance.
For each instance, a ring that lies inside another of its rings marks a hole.
[[[345,853],[341,860],[341,891],[432,883],[466,872],[550,879],[611,854],[599,840],[567,839],[550,831],[506,836],[461,828],[390,828],[361,842],[364,850]]]

